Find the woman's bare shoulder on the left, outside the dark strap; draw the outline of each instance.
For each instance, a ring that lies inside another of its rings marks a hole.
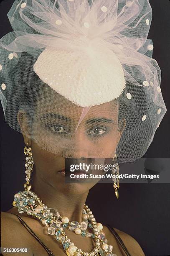
[[[8,212],[1,212],[1,247],[3,248],[29,248],[28,253],[24,255],[32,256],[30,244],[25,238],[24,228],[18,218]],[[9,253],[3,253],[4,256]],[[21,252],[13,253],[14,256],[20,256]]]

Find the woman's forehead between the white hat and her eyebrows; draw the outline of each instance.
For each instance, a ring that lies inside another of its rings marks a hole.
[[[42,116],[48,113],[64,115],[73,121],[79,120],[83,107],[80,107],[66,99],[55,91],[43,92],[35,105],[35,114]],[[92,106],[84,120],[89,118],[117,118],[119,106],[116,100]]]

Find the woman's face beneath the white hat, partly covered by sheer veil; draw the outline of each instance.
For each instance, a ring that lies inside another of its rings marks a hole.
[[[58,93],[50,93],[50,101],[49,92],[48,97],[43,92],[35,106],[31,127],[34,168],[38,177],[56,189],[84,193],[99,179],[92,183],[65,183],[60,172],[65,169],[65,158],[113,158],[125,120],[118,125],[119,106],[111,101],[91,107],[77,126],[83,108]]]

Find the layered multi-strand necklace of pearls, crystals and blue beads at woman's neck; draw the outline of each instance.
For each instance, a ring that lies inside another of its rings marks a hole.
[[[101,223],[96,222],[88,205],[84,204],[83,221],[80,224],[78,221],[70,222],[69,218],[62,217],[58,210],[48,208],[38,195],[30,190],[28,184],[24,184],[24,188],[24,191],[19,191],[15,194],[13,206],[18,207],[19,213],[26,212],[28,215],[40,220],[47,228],[47,233],[54,236],[63,245],[63,249],[68,256],[117,256],[112,253],[113,246],[107,244],[105,234],[102,232],[103,226]],[[88,226],[92,230],[91,233],[85,231]],[[66,236],[64,228],[74,231],[77,235],[81,234],[81,236],[93,238],[95,241],[94,249],[88,253],[77,248]]]

